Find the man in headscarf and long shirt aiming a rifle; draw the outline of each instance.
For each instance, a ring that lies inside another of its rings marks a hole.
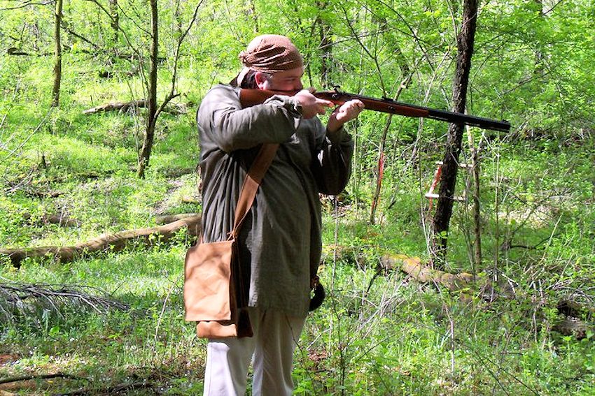
[[[289,38],[254,38],[230,85],[217,85],[197,114],[204,242],[226,240],[246,172],[263,143],[279,143],[239,237],[239,261],[250,274],[253,337],[209,339],[205,395],[244,395],[253,361],[253,395],[290,395],[293,351],[321,257],[318,193],[336,195],[351,173],[353,140],[343,124],[363,109],[350,101],[326,128],[316,115],[332,107],[303,89],[302,57]],[[240,88],[281,93],[242,108]],[[299,91],[295,94],[296,91]],[[294,95],[295,94],[295,95]]]

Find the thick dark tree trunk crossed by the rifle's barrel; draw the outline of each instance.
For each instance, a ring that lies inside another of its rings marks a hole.
[[[471,69],[471,56],[475,42],[477,24],[477,0],[463,0],[463,21],[456,41],[458,54],[456,75],[453,82],[452,102],[454,112],[465,112],[467,87]],[[461,154],[463,124],[450,124],[448,129],[446,152],[442,165],[439,198],[433,221],[433,265],[444,268],[447,254],[448,229],[454,203],[454,187],[458,172],[458,156]]]

